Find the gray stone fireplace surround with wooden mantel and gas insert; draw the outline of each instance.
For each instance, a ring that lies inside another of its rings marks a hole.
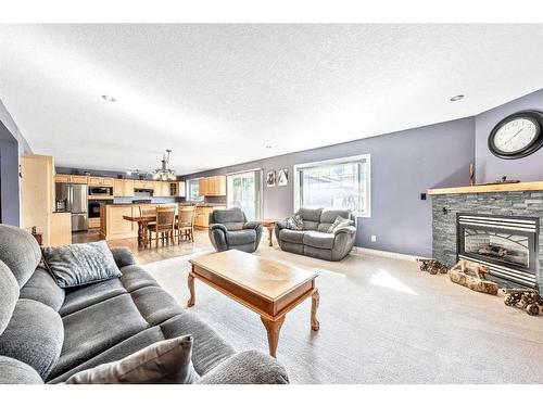
[[[503,287],[543,292],[543,182],[429,190],[433,257],[490,267]]]

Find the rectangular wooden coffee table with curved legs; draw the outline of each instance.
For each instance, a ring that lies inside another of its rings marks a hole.
[[[287,313],[312,297],[311,328],[318,331],[316,272],[230,250],[190,260],[188,307],[194,305],[194,279],[254,310],[267,331],[269,355],[276,357],[279,331]]]

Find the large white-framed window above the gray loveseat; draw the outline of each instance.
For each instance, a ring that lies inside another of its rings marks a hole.
[[[294,166],[294,211],[300,206],[348,208],[370,216],[369,154]]]

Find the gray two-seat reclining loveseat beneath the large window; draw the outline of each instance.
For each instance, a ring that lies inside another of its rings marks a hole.
[[[298,215],[303,219],[303,230],[287,228],[287,221],[278,221],[275,236],[281,250],[324,260],[341,260],[354,246],[356,217],[350,209],[324,209],[301,207]],[[351,219],[354,226],[342,227],[333,233],[328,228],[341,216]]]

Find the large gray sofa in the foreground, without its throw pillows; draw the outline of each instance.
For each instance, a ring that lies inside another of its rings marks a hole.
[[[39,266],[26,231],[0,225],[0,383],[60,383],[154,342],[192,334],[198,383],[287,383],[269,356],[236,353],[186,311],[126,249],[112,250],[123,276],[78,289],[59,288]]]

